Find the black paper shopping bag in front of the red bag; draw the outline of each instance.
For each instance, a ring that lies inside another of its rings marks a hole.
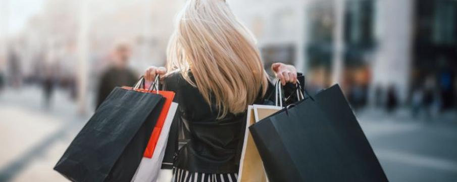
[[[55,170],[71,181],[130,181],[165,100],[115,88],[78,133]]]

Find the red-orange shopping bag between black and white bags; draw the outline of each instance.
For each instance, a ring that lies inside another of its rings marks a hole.
[[[127,89],[132,89],[131,87],[123,87]],[[148,90],[148,89],[135,89],[139,92],[149,92],[149,93],[156,93],[162,95],[166,100],[162,112],[160,113],[159,119],[157,120],[157,124],[154,127],[153,134],[151,134],[149,138],[149,143],[147,144],[147,148],[144,151],[144,157],[152,158],[154,154],[154,149],[156,148],[157,141],[159,140],[160,132],[162,131],[162,127],[164,126],[165,119],[168,114],[168,110],[170,109],[171,103],[173,102],[173,98],[175,97],[174,92],[169,91],[162,91],[162,90]]]

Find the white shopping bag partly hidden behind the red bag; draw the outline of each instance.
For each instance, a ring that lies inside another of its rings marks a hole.
[[[152,158],[143,157],[135,175],[131,180],[132,182],[156,182],[158,180],[161,172],[162,161],[165,155],[165,149],[167,147],[170,127],[177,109],[178,104],[172,103],[154,150],[154,155]]]

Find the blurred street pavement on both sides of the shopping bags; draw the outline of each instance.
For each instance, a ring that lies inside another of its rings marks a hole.
[[[0,92],[0,182],[67,181],[53,166],[92,110],[77,115],[76,103],[62,90],[48,110],[38,87]],[[434,121],[413,119],[406,111],[356,113],[390,181],[457,181],[455,113]]]

